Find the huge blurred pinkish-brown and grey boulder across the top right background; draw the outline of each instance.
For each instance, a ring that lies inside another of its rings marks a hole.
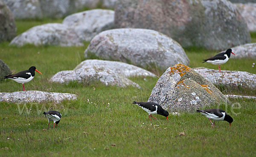
[[[250,43],[244,19],[227,0],[119,0],[115,25],[153,29],[183,47],[222,50]]]

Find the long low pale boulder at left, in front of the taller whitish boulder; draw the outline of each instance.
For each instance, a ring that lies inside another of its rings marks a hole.
[[[10,43],[10,45],[16,46],[24,46],[26,44],[35,46],[83,46],[76,32],[61,23],[48,23],[32,27],[15,37]]]

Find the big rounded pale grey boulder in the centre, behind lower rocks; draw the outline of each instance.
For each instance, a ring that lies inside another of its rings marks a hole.
[[[84,57],[117,60],[145,69],[165,70],[176,63],[189,64],[179,43],[149,29],[112,29],[96,35]]]

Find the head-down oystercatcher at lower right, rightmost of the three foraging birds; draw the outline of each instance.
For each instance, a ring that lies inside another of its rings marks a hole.
[[[233,122],[233,118],[230,117],[230,115],[228,115],[226,111],[222,109],[212,108],[212,109],[206,109],[206,110],[196,110],[196,112],[199,112],[203,114],[205,117],[209,118],[209,121],[211,122],[212,127],[215,126],[215,121],[225,120],[228,123],[230,123],[230,126],[231,126],[231,123]],[[211,120],[214,120],[214,122],[212,123]]]

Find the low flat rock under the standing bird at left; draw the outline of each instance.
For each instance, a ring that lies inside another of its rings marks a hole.
[[[0,93],[0,102],[8,103],[60,103],[63,100],[76,100],[76,95],[70,93],[54,93],[46,91],[15,91],[12,93]]]

